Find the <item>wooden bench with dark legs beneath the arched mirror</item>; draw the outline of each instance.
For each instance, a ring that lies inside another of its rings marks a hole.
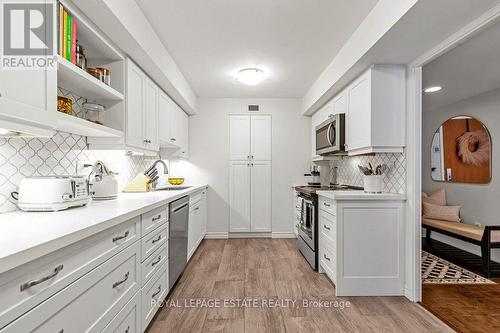
[[[478,227],[471,224],[422,218],[427,244],[431,242],[431,231],[463,240],[481,247],[484,274],[491,277],[491,249],[500,248],[500,225]]]

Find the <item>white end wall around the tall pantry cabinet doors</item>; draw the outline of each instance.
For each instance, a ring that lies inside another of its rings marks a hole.
[[[207,231],[228,232],[229,114],[247,113],[248,104],[272,114],[272,231],[292,233],[291,187],[304,182],[311,155],[310,118],[300,115],[300,99],[200,98],[189,122],[190,161],[172,163],[172,173],[189,170],[190,182],[210,185]]]

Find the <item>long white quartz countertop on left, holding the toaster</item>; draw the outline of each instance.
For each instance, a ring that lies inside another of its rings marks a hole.
[[[0,214],[0,274],[206,187],[120,193],[115,200],[59,212]]]

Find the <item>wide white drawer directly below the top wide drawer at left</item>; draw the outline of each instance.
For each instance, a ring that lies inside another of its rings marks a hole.
[[[2,332],[101,332],[139,290],[139,256],[135,243]]]

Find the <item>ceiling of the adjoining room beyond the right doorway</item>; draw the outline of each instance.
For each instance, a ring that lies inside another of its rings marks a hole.
[[[423,94],[423,110],[431,111],[500,88],[500,23],[480,32],[425,65],[422,86],[443,90]]]

